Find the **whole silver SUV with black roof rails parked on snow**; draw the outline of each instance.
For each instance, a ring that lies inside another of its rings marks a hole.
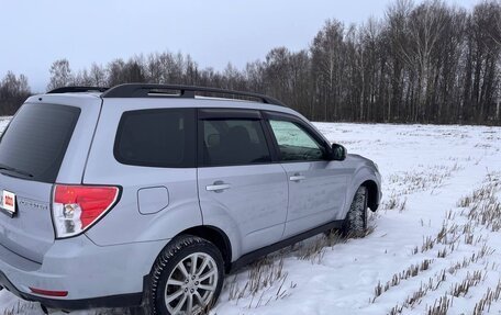
[[[0,289],[44,310],[198,314],[257,257],[363,236],[380,195],[372,161],[266,95],[62,88],[0,139]]]

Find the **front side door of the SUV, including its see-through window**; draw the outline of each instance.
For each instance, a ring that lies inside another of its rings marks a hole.
[[[329,144],[301,120],[279,113],[267,119],[289,182],[283,237],[334,221],[346,194],[343,162],[329,158]]]

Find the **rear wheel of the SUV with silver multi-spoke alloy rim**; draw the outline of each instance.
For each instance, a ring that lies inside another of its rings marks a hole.
[[[223,277],[224,261],[218,247],[197,236],[177,237],[155,261],[144,312],[205,314],[221,293]]]

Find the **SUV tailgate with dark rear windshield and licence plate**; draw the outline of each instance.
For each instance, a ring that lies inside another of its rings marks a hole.
[[[24,104],[0,139],[0,246],[41,262],[54,243],[53,184],[80,109]]]

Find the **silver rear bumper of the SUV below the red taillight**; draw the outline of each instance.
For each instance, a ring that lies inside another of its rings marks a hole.
[[[21,299],[52,308],[138,305],[145,278],[166,244],[163,240],[100,247],[82,235],[56,240],[41,265],[0,245],[0,285]],[[45,296],[30,288],[68,294]]]

